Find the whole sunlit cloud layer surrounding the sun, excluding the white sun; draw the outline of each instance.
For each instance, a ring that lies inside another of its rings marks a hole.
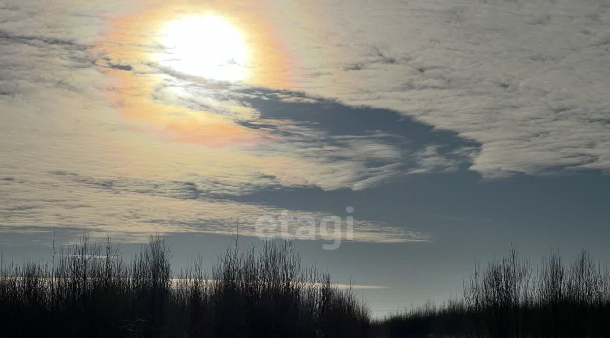
[[[117,4],[0,5],[2,227],[231,233],[330,216],[235,202],[265,189],[610,170],[605,1]],[[154,24],[197,8],[253,18],[257,77],[150,57]],[[356,220],[354,240],[432,238],[406,226]]]

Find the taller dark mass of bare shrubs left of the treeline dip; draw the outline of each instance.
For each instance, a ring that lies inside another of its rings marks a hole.
[[[55,246],[54,246],[55,251]],[[125,261],[84,236],[48,263],[2,261],[1,337],[362,337],[368,308],[290,244],[171,270],[162,237]]]

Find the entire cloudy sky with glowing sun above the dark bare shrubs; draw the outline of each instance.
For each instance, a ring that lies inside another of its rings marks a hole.
[[[608,261],[605,0],[0,1],[0,250],[295,241],[375,314]]]

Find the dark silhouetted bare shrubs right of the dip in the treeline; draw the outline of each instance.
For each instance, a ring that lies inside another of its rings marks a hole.
[[[460,294],[371,325],[392,337],[610,337],[610,272],[587,252],[539,267],[508,257],[475,269]]]

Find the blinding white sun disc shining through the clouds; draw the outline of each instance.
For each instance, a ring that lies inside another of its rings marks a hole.
[[[161,32],[161,64],[193,76],[235,82],[247,75],[248,45],[242,32],[223,18],[188,16]]]

